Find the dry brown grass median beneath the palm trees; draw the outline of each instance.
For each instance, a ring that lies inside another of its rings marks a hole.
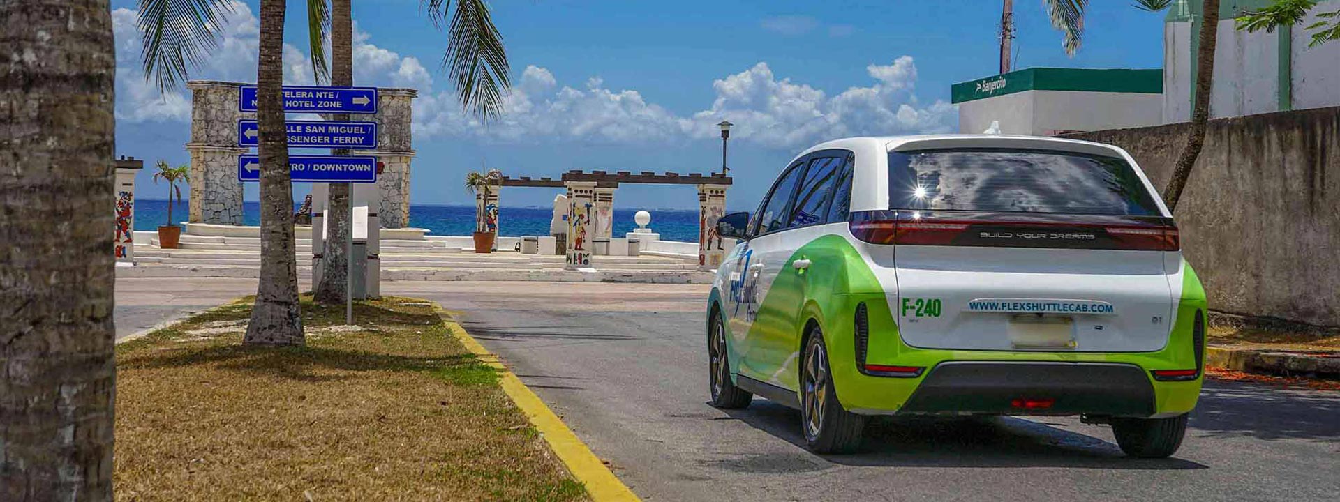
[[[430,304],[304,301],[293,348],[243,347],[249,309],[117,348],[118,499],[586,499]]]

